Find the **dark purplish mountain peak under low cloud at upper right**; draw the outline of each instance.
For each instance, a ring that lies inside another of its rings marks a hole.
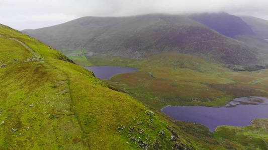
[[[254,35],[250,26],[240,17],[226,12],[193,14],[191,18],[229,37]]]

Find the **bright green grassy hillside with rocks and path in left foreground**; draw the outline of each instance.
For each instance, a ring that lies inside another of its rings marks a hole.
[[[2,24],[0,34],[0,149],[195,148],[61,52]]]

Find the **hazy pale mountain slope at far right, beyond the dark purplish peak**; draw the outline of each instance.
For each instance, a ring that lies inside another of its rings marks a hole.
[[[254,33],[264,39],[268,39],[268,20],[264,20],[261,18],[253,17],[253,16],[240,16],[254,31]]]

